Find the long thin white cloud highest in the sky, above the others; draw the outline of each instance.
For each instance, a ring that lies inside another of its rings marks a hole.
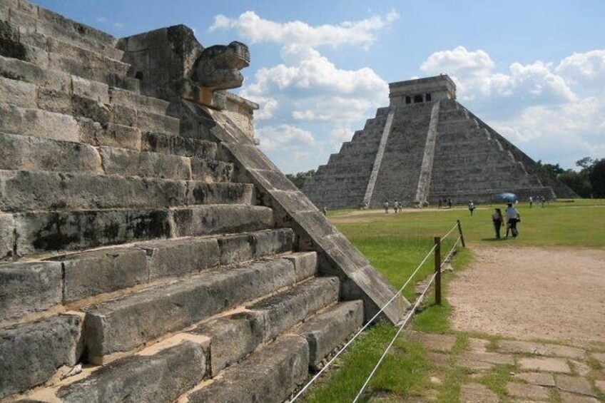
[[[276,22],[263,19],[254,11],[245,11],[236,19],[218,15],[210,31],[234,29],[252,44],[273,42],[275,44],[307,44],[307,46],[342,44],[368,46],[375,41],[375,32],[384,29],[399,18],[392,10],[385,16],[372,16],[360,21],[345,21],[337,25],[310,26],[303,21]]]

